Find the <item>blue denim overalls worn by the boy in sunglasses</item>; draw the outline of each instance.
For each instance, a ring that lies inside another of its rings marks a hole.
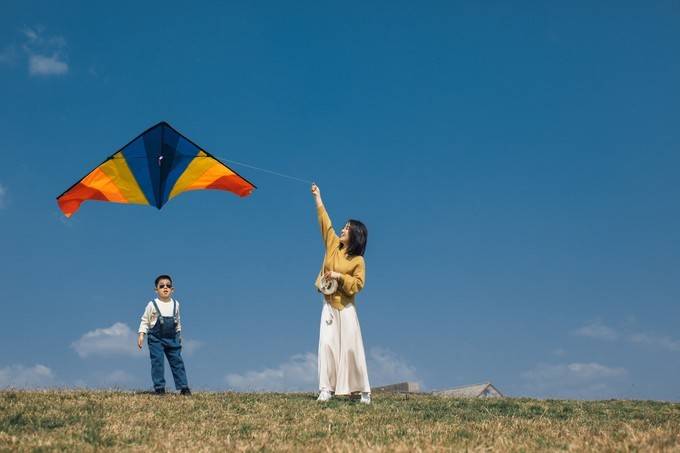
[[[168,358],[172,377],[175,380],[175,388],[182,390],[189,388],[187,375],[184,371],[184,361],[182,360],[182,344],[177,332],[177,302],[172,300],[172,316],[161,316],[155,300],[151,301],[153,308],[158,314],[156,324],[149,330],[147,336],[149,344],[149,355],[151,356],[151,379],[153,380],[154,390],[165,390],[165,369],[163,363],[163,353]]]

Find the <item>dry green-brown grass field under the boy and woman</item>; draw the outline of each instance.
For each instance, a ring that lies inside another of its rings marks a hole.
[[[680,451],[680,404],[0,391],[0,450]]]

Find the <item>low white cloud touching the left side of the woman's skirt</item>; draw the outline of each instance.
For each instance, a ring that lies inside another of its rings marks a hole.
[[[227,385],[234,390],[301,391],[312,390],[317,381],[316,354],[296,354],[277,368],[227,374]]]

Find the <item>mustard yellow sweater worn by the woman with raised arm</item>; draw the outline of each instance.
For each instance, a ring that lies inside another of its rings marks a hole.
[[[326,246],[326,254],[321,268],[322,274],[328,271],[342,274],[342,277],[338,280],[338,290],[330,296],[324,295],[324,298],[333,308],[342,310],[346,305],[354,303],[354,295],[364,287],[366,280],[364,257],[347,256],[345,251],[340,248],[340,238],[335,234],[331,219],[323,205],[317,208],[317,214],[321,226],[321,237]],[[317,283],[322,274],[317,278]]]

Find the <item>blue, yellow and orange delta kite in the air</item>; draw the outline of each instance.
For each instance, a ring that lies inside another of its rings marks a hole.
[[[166,122],[142,132],[57,197],[71,217],[86,200],[163,207],[189,190],[226,190],[246,197],[255,186]]]

